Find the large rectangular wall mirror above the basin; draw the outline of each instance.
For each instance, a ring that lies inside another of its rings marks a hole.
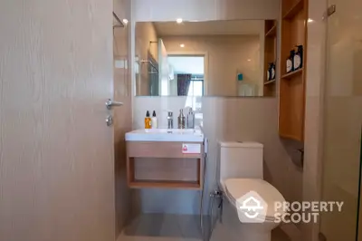
[[[275,20],[136,23],[138,96],[275,96]]]

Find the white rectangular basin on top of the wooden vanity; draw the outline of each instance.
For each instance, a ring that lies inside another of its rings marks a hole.
[[[126,141],[185,141],[203,142],[200,129],[140,129],[126,133]]]

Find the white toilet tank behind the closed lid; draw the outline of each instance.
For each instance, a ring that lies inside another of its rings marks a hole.
[[[219,142],[219,180],[228,178],[260,178],[262,149],[258,142]]]

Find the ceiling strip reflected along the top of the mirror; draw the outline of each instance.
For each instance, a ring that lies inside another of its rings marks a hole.
[[[159,37],[172,35],[224,35],[263,33],[263,20],[231,20],[208,22],[155,22]]]

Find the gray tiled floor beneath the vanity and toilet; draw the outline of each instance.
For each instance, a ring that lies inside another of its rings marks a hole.
[[[205,217],[205,229],[208,228]],[[206,231],[207,232],[207,231]],[[118,241],[201,241],[199,217],[192,215],[143,214],[124,228]],[[211,241],[223,240],[214,232]],[[271,241],[290,241],[280,228],[272,232]]]

